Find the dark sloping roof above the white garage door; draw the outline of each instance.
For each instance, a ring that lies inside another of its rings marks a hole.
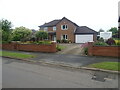
[[[75,34],[97,34],[97,32],[87,26],[80,26],[76,28]]]

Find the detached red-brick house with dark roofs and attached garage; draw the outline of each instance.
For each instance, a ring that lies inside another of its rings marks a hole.
[[[60,20],[53,20],[39,26],[40,30],[48,32],[49,40],[71,40],[73,43],[85,43],[95,41],[97,32],[86,27],[78,26],[71,20],[63,17]]]

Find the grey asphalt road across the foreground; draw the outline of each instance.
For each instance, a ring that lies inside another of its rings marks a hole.
[[[100,73],[100,75],[105,75]],[[92,79],[93,72],[64,69],[3,58],[3,88],[118,88],[117,75],[102,81]]]

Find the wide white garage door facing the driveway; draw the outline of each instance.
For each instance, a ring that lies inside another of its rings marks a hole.
[[[86,43],[89,41],[93,41],[93,34],[75,35],[76,43]]]

